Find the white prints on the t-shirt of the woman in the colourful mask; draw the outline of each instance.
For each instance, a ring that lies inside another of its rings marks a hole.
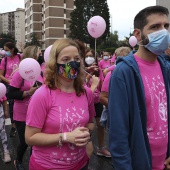
[[[81,122],[84,119],[84,113],[84,109],[77,109],[75,106],[70,108],[61,108],[59,106],[60,132],[62,133],[63,129],[67,129],[67,132],[71,132],[75,128],[83,126]],[[70,152],[63,153],[62,155],[60,154],[59,160],[56,159],[56,157],[58,156],[57,152],[52,152],[50,158],[54,162],[58,161],[60,163],[73,163],[74,161],[77,162],[78,160],[82,159],[84,155],[81,147],[77,150],[77,147],[74,144],[67,143],[67,146],[70,149]]]

